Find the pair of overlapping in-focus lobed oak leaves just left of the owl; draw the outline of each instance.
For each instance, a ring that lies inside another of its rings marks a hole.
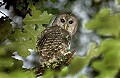
[[[32,16],[27,15],[25,17],[23,20],[25,23],[24,30],[16,29],[15,33],[10,37],[12,41],[15,40],[14,43],[17,45],[16,51],[20,55],[27,56],[29,48],[36,50],[37,36],[44,30],[42,24],[48,24],[51,18],[51,14],[43,12],[40,15],[40,11],[35,11]]]

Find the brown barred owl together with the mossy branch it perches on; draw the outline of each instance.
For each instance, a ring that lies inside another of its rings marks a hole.
[[[42,75],[46,68],[60,69],[69,64],[75,52],[70,52],[69,49],[77,26],[78,19],[75,15],[62,13],[55,18],[51,27],[38,35],[37,50],[41,65],[36,68],[37,76]]]

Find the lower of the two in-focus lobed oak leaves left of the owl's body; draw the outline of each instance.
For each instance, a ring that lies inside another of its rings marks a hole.
[[[24,28],[24,32],[22,32],[20,29],[16,29],[15,33],[11,36],[11,38],[15,40],[14,44],[17,45],[16,51],[19,52],[20,55],[27,56],[29,53],[29,48],[35,50],[37,31],[34,31],[34,29],[31,27],[27,28],[27,26],[25,26]]]

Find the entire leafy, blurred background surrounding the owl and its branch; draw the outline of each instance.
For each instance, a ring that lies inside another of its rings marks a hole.
[[[61,12],[79,19],[71,45],[77,52],[68,67],[42,77],[120,78],[120,0],[0,0],[0,78],[36,78],[13,53],[36,51],[37,35]]]

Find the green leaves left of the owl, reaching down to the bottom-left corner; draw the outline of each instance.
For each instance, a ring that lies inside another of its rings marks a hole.
[[[15,51],[21,56],[26,57],[29,54],[28,49],[36,50],[37,35],[44,30],[42,24],[49,24],[53,17],[53,15],[48,14],[47,11],[41,13],[39,10],[36,10],[34,6],[31,9],[32,16],[29,14],[26,15],[22,28],[13,28],[7,19],[5,19],[5,21],[0,20],[0,76],[2,77],[35,77],[32,70],[23,70],[21,68],[22,62],[11,57]]]

